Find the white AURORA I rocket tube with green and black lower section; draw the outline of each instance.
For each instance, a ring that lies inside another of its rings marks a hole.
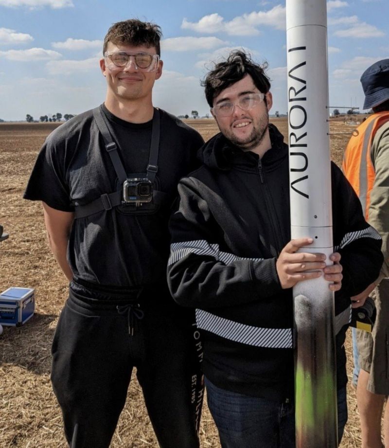
[[[333,252],[325,0],[286,0],[292,238]],[[334,293],[320,277],[293,288],[298,448],[337,447]]]

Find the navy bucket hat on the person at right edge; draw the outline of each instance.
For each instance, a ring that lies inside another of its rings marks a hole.
[[[378,106],[389,100],[389,59],[382,59],[371,65],[361,76],[365,92],[364,109]]]

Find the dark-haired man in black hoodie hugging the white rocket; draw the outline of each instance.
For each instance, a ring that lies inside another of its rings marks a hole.
[[[295,447],[292,287],[321,275],[336,292],[340,442],[350,297],[378,275],[381,238],[332,164],[336,250],[328,264],[324,254],[298,252],[313,240],[290,240],[288,147],[268,122],[263,68],[235,51],[204,86],[221,132],[200,149],[203,165],[178,185],[168,281],[179,304],[196,308],[222,447]]]

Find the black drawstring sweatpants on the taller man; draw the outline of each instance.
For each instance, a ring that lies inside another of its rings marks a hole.
[[[71,448],[109,446],[134,366],[159,446],[197,448],[203,384],[194,313],[164,287],[144,290],[139,305],[75,289],[55,331],[51,376]]]

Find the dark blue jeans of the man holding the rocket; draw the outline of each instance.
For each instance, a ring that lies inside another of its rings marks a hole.
[[[295,409],[290,403],[220,389],[205,378],[208,407],[222,448],[295,448]],[[347,422],[346,388],[337,394],[338,441]]]

